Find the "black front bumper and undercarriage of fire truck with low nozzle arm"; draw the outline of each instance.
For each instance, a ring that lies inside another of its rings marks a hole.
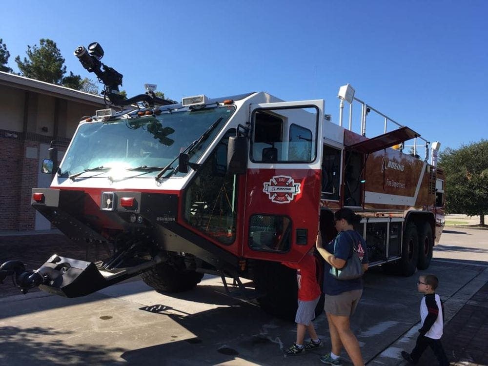
[[[38,200],[42,196],[39,202],[33,199],[33,207],[63,234],[75,243],[103,245],[109,248],[109,256],[86,262],[53,254],[30,272],[18,261],[2,264],[0,280],[14,276],[24,293],[40,286],[47,292],[80,297],[168,265],[182,273],[245,276],[234,255],[177,224],[176,195],[101,192],[102,202],[95,203],[82,190],[34,188],[34,193]],[[121,197],[133,199],[132,205],[118,204]]]

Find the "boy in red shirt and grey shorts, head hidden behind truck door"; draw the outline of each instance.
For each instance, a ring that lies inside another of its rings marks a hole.
[[[321,295],[321,289],[316,278],[314,249],[312,248],[299,263],[282,263],[297,270],[298,281],[298,309],[295,317],[297,341],[285,351],[285,354],[290,356],[303,355],[305,354],[305,349],[322,346],[322,341],[315,332],[312,323],[312,320],[315,319],[315,307]],[[304,345],[305,331],[308,331],[310,341]]]

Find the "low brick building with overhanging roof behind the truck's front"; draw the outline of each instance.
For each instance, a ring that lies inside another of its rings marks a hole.
[[[103,106],[102,97],[0,71],[0,231],[51,227],[30,205],[32,188],[51,183],[42,159],[52,140],[69,142],[81,117]]]

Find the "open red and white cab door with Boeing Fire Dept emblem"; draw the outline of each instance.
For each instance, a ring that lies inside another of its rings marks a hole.
[[[298,262],[318,230],[324,100],[251,104],[245,258]]]

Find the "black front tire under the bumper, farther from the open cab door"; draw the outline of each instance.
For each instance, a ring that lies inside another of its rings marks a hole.
[[[194,288],[202,281],[203,273],[186,269],[183,258],[160,263],[141,273],[142,281],[158,292],[182,292]]]

